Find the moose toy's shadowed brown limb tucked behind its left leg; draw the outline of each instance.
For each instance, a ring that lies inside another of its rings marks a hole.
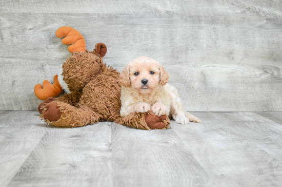
[[[38,106],[38,111],[40,114],[42,114],[42,110],[43,110],[43,106],[45,106],[46,104],[52,102],[52,101],[59,101],[59,102],[63,102],[63,103],[68,103],[72,106],[75,106],[80,97],[82,96],[81,92],[75,92],[75,93],[71,93],[71,94],[64,94],[58,98],[53,98],[50,97],[47,100],[43,101],[42,103],[39,104]]]

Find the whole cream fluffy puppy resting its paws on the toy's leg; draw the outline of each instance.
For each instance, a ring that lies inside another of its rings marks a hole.
[[[185,112],[177,89],[166,84],[168,79],[165,68],[152,58],[138,57],[131,61],[120,73],[120,115],[152,110],[157,116],[170,115],[176,123],[200,123],[200,119]]]

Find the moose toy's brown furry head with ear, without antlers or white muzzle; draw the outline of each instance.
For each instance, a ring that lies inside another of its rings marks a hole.
[[[93,51],[74,52],[63,64],[63,80],[68,84],[71,92],[80,91],[99,74],[104,65],[103,57],[107,52],[107,46],[97,43]]]

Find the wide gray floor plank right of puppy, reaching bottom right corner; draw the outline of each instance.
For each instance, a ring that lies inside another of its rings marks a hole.
[[[171,125],[214,186],[280,186],[280,128],[244,113],[193,114],[203,123]]]

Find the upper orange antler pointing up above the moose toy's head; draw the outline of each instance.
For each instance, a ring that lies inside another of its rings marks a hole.
[[[58,28],[58,30],[56,31],[56,36],[58,38],[63,38],[62,43],[65,45],[71,45],[68,47],[68,51],[73,53],[74,51],[76,52],[85,52],[86,50],[86,44],[85,44],[85,40],[82,36],[82,34],[80,34],[80,32],[78,32],[76,29],[72,28],[72,27],[60,27]]]

